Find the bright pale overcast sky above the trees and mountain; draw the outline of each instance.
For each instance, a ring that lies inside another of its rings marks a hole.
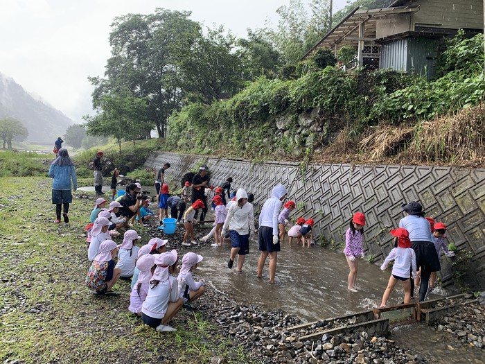
[[[239,37],[276,23],[289,0],[1,0],[0,73],[41,96],[73,121],[92,114],[87,76],[103,76],[114,17],[155,8],[190,10],[206,26],[223,24]],[[346,0],[334,0],[334,12]]]

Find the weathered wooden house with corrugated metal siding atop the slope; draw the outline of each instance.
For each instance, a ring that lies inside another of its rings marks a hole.
[[[434,73],[436,57],[445,37],[484,29],[482,0],[396,0],[387,8],[359,10],[346,15],[320,42],[318,49],[335,53],[350,44],[358,50],[358,65],[367,69],[394,69]]]

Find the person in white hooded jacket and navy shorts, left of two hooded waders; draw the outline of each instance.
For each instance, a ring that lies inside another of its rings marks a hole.
[[[227,214],[222,235],[229,230],[231,238],[231,256],[227,261],[227,268],[231,269],[238,254],[238,272],[243,271],[246,254],[249,253],[249,239],[254,236],[254,207],[247,202],[247,193],[244,189],[238,189],[237,202],[231,206]]]

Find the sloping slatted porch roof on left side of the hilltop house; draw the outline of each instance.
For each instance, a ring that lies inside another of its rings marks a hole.
[[[401,1],[401,0],[399,0]],[[395,1],[397,3],[398,1]],[[405,1],[402,1],[405,2]],[[380,19],[385,19],[389,15],[403,14],[409,12],[416,12],[419,10],[418,5],[412,6],[394,6],[389,8],[370,9],[370,10],[358,10],[355,8],[349,15],[346,15],[337,26],[329,31],[315,46],[310,49],[302,59],[311,55],[317,49],[329,48],[334,49],[338,44],[344,46],[345,44],[355,44],[358,42],[359,26],[365,24],[364,38],[369,40],[376,39],[376,23]]]

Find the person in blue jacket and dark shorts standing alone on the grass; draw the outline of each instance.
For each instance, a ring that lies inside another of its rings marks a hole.
[[[62,205],[64,205],[64,223],[69,223],[69,204],[73,202],[71,193],[71,180],[73,189],[78,189],[78,177],[66,148],[60,148],[59,156],[54,159],[48,170],[48,176],[53,177],[52,182],[52,203],[55,204],[55,223],[60,223]]]

